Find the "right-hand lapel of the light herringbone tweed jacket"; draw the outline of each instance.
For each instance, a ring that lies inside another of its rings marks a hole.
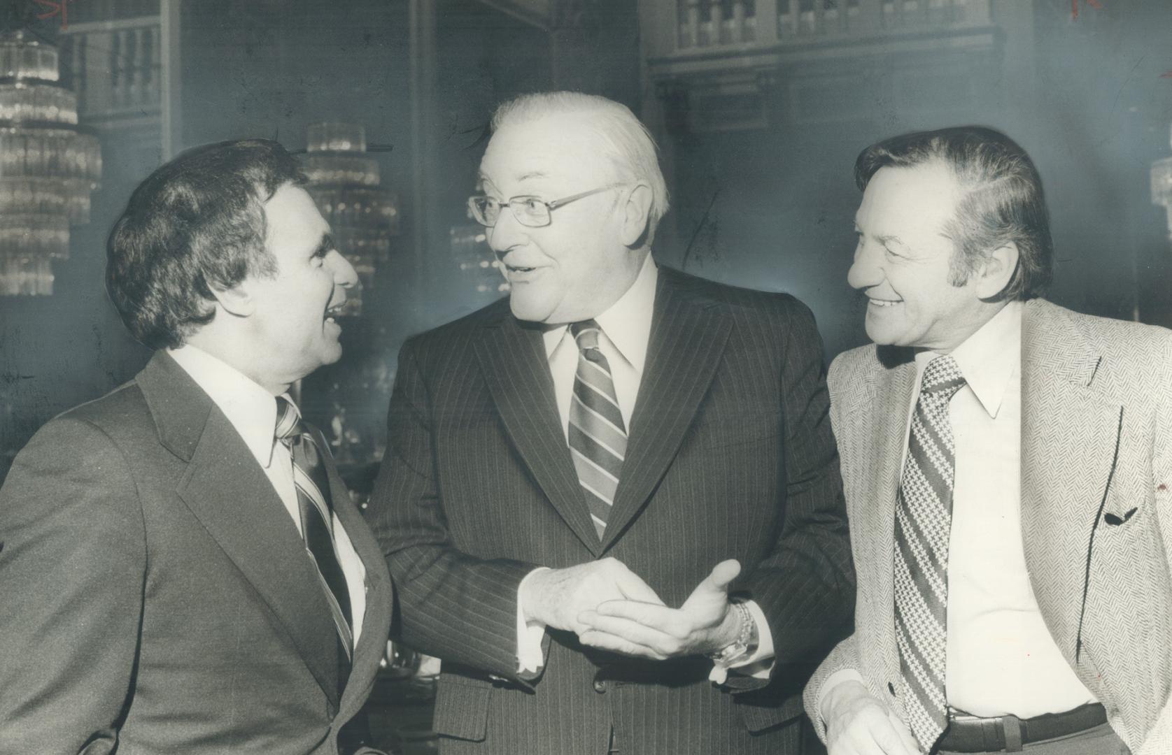
[[[1071,664],[1122,411],[1091,387],[1099,359],[1059,308],[1029,303],[1022,327],[1022,536],[1038,608]]]

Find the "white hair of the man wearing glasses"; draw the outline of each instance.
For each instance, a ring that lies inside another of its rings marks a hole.
[[[626,105],[580,91],[539,91],[503,102],[492,115],[492,131],[502,126],[536,121],[551,115],[578,115],[590,118],[601,138],[604,157],[614,165],[621,180],[643,180],[652,190],[647,219],[647,242],[667,213],[667,183],[659,166],[659,151],[650,131]]]

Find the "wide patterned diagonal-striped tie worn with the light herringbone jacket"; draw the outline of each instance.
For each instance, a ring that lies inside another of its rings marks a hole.
[[[895,507],[895,640],[908,723],[925,751],[948,723],[945,651],[955,468],[948,401],[963,386],[949,356],[925,369]]]

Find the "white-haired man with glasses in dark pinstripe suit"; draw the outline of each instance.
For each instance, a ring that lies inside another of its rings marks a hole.
[[[797,751],[854,589],[810,311],[655,266],[618,103],[502,105],[479,186],[511,294],[404,344],[372,500],[441,750]]]

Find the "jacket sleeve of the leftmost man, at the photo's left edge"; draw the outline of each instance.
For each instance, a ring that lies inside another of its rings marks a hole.
[[[46,425],[0,489],[0,753],[117,747],[142,617],[145,535],[101,430]]]

